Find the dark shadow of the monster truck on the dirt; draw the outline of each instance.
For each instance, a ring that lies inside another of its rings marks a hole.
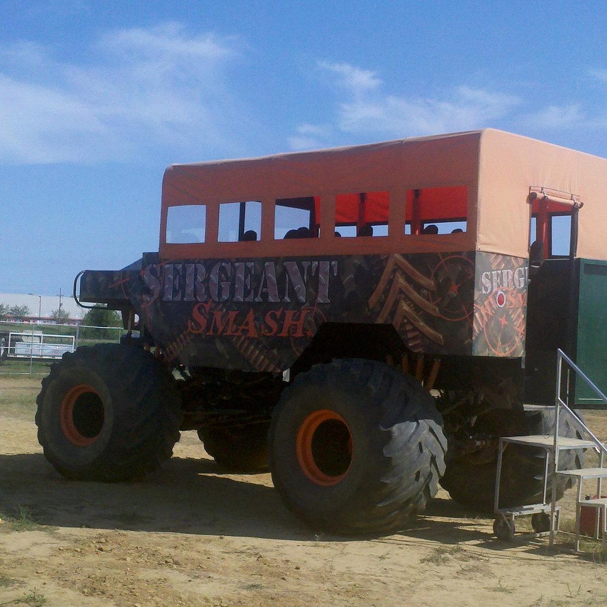
[[[269,475],[228,475],[204,458],[174,457],[144,480],[115,484],[66,480],[41,453],[0,455],[0,470],[0,512],[19,517],[27,509],[42,525],[282,540],[357,539],[305,527],[283,506]],[[412,520],[399,535],[449,543],[487,539],[466,518],[469,513],[451,500],[433,500],[427,515]]]

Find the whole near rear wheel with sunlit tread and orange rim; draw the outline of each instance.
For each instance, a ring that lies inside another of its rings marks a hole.
[[[447,441],[430,393],[381,362],[336,360],[296,377],[274,410],[270,469],[317,530],[396,532],[438,490]]]

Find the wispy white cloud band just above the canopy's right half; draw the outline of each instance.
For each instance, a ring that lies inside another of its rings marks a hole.
[[[486,87],[459,86],[432,97],[394,93],[376,72],[348,63],[319,62],[337,92],[333,130],[312,135],[299,127],[289,142],[292,149],[310,149],[381,138],[415,137],[456,131],[508,127],[514,124],[545,138],[568,129],[607,129],[607,107],[602,97],[542,105],[537,95],[509,95]],[[607,70],[586,72],[595,84],[607,84]],[[593,103],[594,101],[594,103]],[[308,125],[309,126],[309,125]]]

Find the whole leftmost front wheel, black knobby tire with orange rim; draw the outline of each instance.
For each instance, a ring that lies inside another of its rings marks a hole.
[[[101,344],[64,354],[36,402],[38,441],[66,478],[138,478],[171,457],[179,439],[175,380],[138,347]]]

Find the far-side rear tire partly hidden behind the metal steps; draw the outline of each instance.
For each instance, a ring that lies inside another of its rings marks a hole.
[[[526,429],[521,435],[552,435],[555,412],[553,407],[526,410]],[[574,424],[563,412],[559,421],[560,436],[580,438]],[[500,480],[500,508],[541,503],[544,487],[544,449],[509,444],[504,450]],[[562,469],[582,468],[583,450],[561,451],[558,467]],[[551,464],[549,464],[551,466]],[[550,467],[549,467],[550,470]],[[449,492],[453,500],[478,512],[493,512],[495,500],[495,474],[497,459],[476,465],[470,458],[450,459],[447,470],[441,478],[441,486]],[[564,476],[557,478],[557,500],[563,497],[572,481]],[[547,500],[552,499],[552,483],[548,480]]]

